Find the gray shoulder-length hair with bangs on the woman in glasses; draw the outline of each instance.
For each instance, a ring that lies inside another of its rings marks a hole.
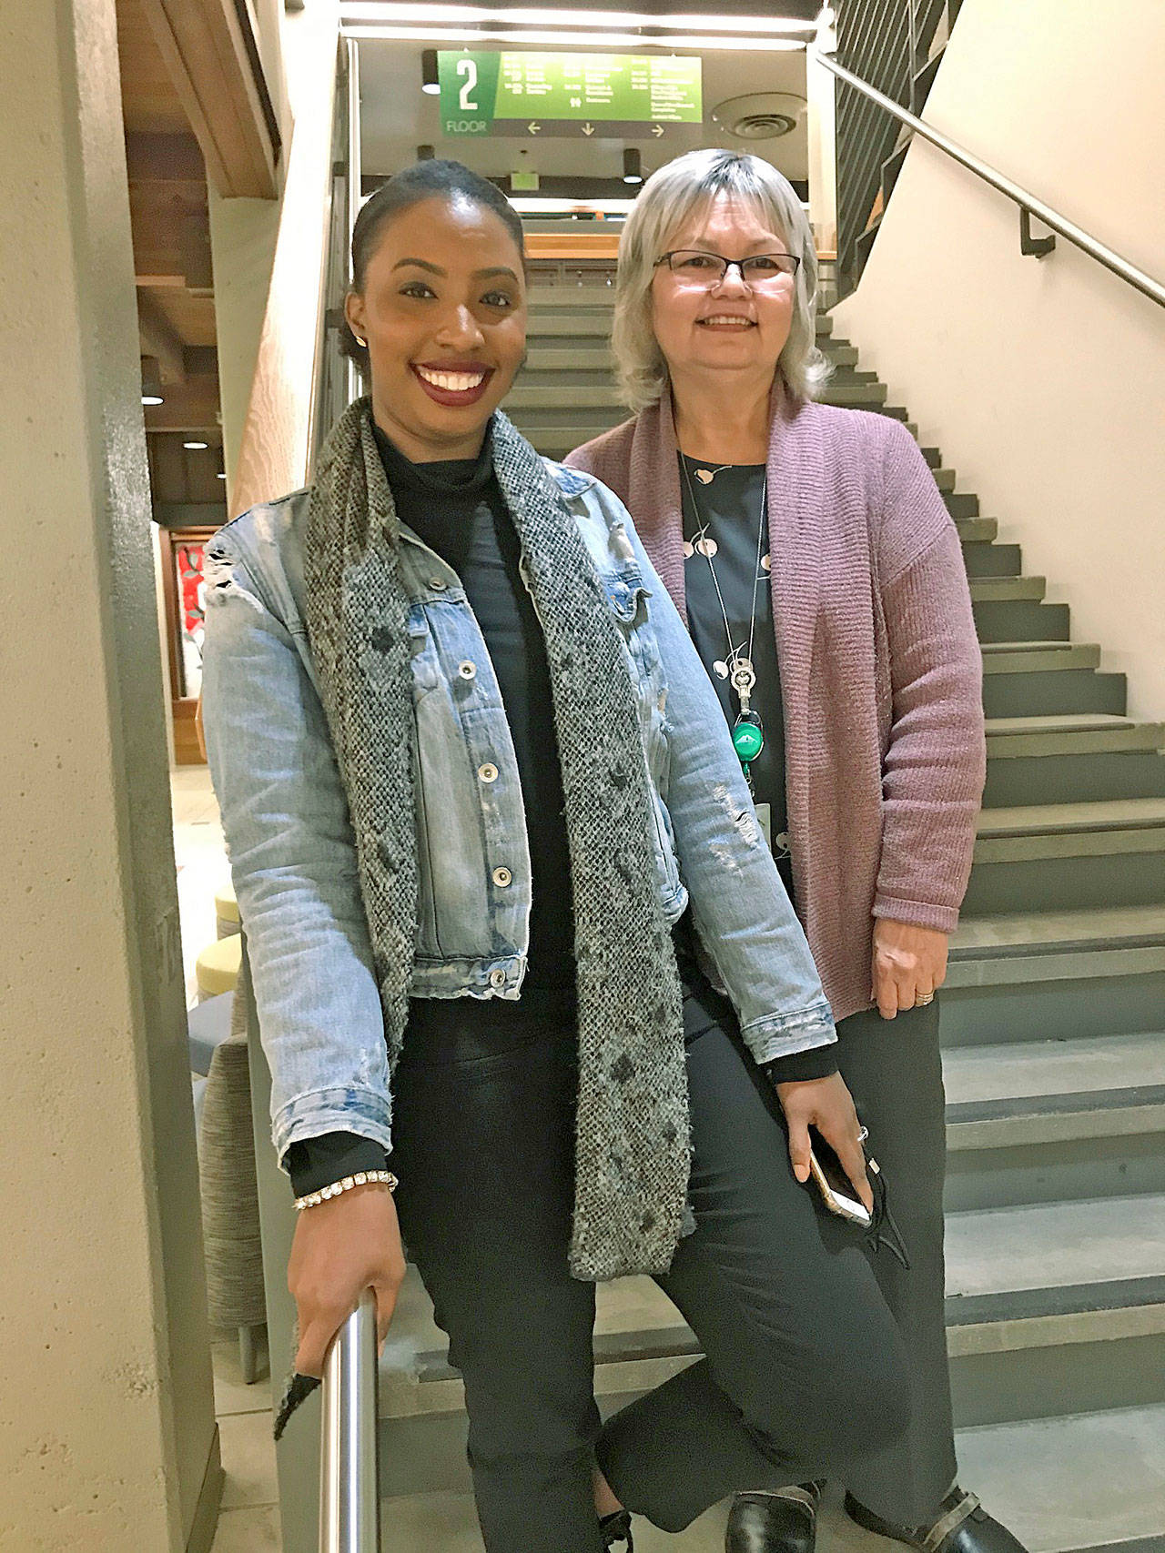
[[[791,183],[760,157],[739,151],[690,151],[651,174],[631,208],[618,244],[615,353],[620,398],[634,415],[654,404],[668,385],[668,365],[656,343],[651,321],[651,283],[656,261],[676,233],[718,196],[752,205],[764,224],[781,235],[789,253],[800,258],[792,326],[777,371],[795,399],[812,399],[829,376],[817,349],[817,248],[809,222]]]

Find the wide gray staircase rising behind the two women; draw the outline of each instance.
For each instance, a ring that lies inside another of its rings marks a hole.
[[[550,457],[626,418],[612,295],[534,294],[506,408]],[[828,317],[817,334],[836,367],[826,402],[910,426]],[[1033,1553],[1149,1553],[1165,1548],[1165,727],[1126,716],[1125,676],[1070,640],[1069,607],[1024,575],[940,449],[923,452],[963,540],[988,719],[943,994],[963,1471]],[[598,1303],[604,1412],[697,1351],[651,1280]],[[381,1405],[387,1496],[468,1489],[461,1382],[412,1270]],[[862,1537],[850,1527],[843,1545],[887,1547]],[[674,1545],[713,1542],[693,1528]]]

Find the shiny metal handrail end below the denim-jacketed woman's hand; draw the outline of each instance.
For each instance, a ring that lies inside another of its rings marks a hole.
[[[376,1297],[360,1303],[323,1360],[320,1553],[377,1553]]]

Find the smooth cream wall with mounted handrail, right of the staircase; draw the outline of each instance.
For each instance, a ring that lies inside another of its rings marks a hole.
[[[965,0],[924,116],[1165,283],[1162,82],[1160,0]],[[836,317],[1165,717],[1165,309],[915,143]]]

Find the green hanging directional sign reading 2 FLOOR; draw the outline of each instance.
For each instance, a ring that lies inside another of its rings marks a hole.
[[[676,54],[438,54],[446,135],[652,135],[704,116],[701,59]]]

